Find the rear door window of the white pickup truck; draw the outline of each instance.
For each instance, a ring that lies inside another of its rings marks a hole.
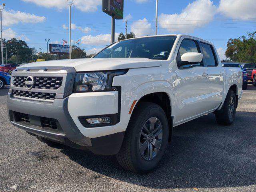
[[[217,62],[215,52],[214,52],[212,46],[208,45],[206,43],[202,43],[202,42],[201,42],[201,45],[202,45],[202,49],[203,49],[202,52],[203,52],[204,58],[206,60],[206,65],[207,66],[217,66],[218,62]]]

